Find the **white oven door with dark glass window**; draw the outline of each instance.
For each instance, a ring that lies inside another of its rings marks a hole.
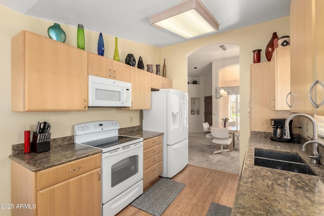
[[[102,203],[143,179],[143,142],[102,154]]]

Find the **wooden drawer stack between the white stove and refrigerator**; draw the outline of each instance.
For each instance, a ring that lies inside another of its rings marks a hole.
[[[162,135],[144,140],[143,151],[143,188],[146,188],[163,172]]]

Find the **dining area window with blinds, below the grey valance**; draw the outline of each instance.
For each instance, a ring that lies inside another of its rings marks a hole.
[[[239,95],[227,95],[219,100],[219,124],[222,124],[223,117],[239,125]]]

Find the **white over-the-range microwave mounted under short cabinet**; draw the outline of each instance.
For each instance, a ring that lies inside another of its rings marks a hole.
[[[132,83],[88,75],[88,107],[130,107]]]

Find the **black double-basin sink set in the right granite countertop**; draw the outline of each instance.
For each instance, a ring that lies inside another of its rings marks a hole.
[[[255,149],[254,165],[316,176],[297,153]]]

